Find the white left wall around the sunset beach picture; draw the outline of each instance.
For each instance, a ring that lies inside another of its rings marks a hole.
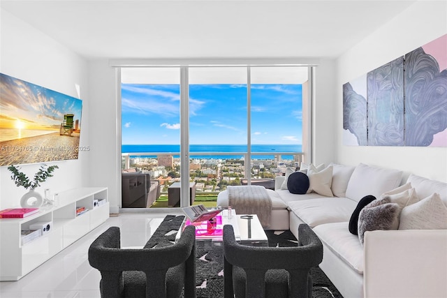
[[[87,61],[6,10],[0,8],[0,14],[0,72],[76,98],[78,84],[83,100],[80,145],[89,145]],[[80,152],[78,160],[51,165],[58,165],[59,169],[38,188],[42,195],[44,188],[57,193],[83,186],[89,180],[89,152]],[[22,171],[34,176],[39,167],[40,164],[22,165]],[[6,166],[0,167],[0,209],[20,207],[20,198],[26,192],[15,186]]]

